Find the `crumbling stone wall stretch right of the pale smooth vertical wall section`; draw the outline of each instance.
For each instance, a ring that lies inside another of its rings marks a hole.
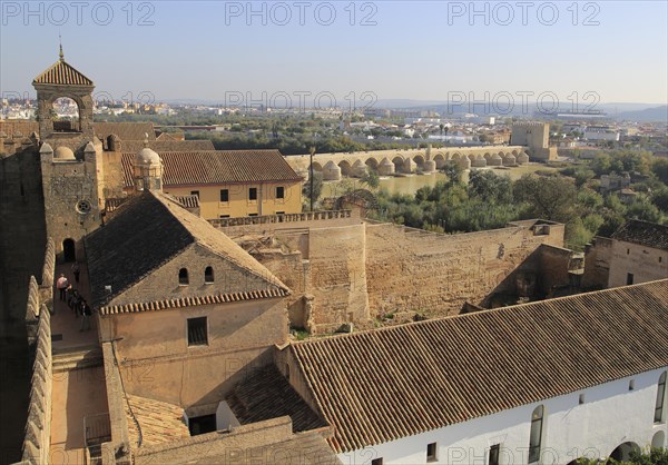
[[[455,314],[480,305],[541,244],[563,246],[563,226],[519,221],[503,229],[442,235],[369,225],[366,273],[371,316]]]

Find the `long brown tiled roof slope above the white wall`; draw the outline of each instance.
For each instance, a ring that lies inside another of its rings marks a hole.
[[[667,340],[668,279],[289,350],[345,452],[666,367]]]

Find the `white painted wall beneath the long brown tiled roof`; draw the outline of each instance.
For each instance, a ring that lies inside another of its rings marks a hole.
[[[581,456],[608,457],[626,442],[646,447],[657,432],[667,436],[666,412],[661,424],[654,423],[658,380],[665,369],[340,454],[338,458],[345,465],[371,464],[379,457],[383,457],[383,465],[426,464],[426,445],[438,443],[438,459],[430,464],[487,465],[490,446],[501,444],[502,465],[527,464],[531,413],[541,404],[542,465],[567,464]],[[635,380],[633,390],[629,390],[630,379]],[[580,394],[584,394],[582,405]]]

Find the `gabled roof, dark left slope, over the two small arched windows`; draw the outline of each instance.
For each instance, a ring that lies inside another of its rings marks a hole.
[[[114,218],[85,238],[94,305],[104,306],[193,244],[207,248],[240,271],[254,276],[257,283],[256,289],[229,288],[223,291],[242,291],[249,294],[248,298],[264,298],[266,293],[274,291],[282,295],[289,293],[278,278],[208,221],[163,194],[145,191],[120,205]],[[105,286],[111,286],[111,294],[105,291]],[[253,291],[256,295],[252,295]],[[222,290],[218,288],[210,293],[219,295]],[[206,300],[208,294],[187,297],[184,301]],[[179,306],[183,305],[158,307]],[[153,309],[153,305],[148,307]]]

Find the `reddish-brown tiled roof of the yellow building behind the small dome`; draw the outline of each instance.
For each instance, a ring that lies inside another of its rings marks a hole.
[[[163,182],[166,187],[302,180],[278,150],[207,150],[159,154],[165,165]],[[134,186],[134,152],[122,155],[124,181],[127,188]]]

